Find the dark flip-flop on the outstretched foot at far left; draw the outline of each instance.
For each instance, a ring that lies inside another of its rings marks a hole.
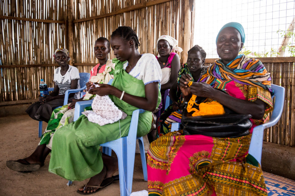
[[[23,161],[24,163],[20,162]],[[24,159],[19,159],[16,161],[6,161],[6,166],[17,172],[30,172],[39,170],[41,165],[39,163],[29,163]]]

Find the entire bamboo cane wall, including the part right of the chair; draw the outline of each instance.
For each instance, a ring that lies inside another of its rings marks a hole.
[[[53,86],[56,64],[52,55],[57,47],[68,47],[70,64],[80,72],[90,72],[98,63],[94,41],[100,36],[109,39],[121,25],[135,29],[140,53],[156,54],[157,38],[163,34],[176,38],[180,47],[184,45],[184,0],[67,1],[22,0],[7,4],[0,0],[0,105],[33,102],[41,78]],[[194,23],[193,17],[191,21]],[[184,52],[180,53],[182,62],[186,61]],[[109,58],[113,57],[111,51]],[[264,140],[294,146],[295,58],[260,60],[271,72],[272,83],[286,89],[282,118],[265,131]],[[213,62],[206,59],[207,64]]]

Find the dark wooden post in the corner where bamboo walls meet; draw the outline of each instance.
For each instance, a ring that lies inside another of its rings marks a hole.
[[[66,28],[66,47],[70,53],[71,60],[68,62],[70,65],[74,65],[74,48],[73,48],[73,0],[68,1],[67,5],[67,21],[65,23]]]

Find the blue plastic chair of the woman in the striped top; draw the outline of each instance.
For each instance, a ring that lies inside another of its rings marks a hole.
[[[65,99],[63,101],[63,105],[67,105],[68,104],[68,98],[69,98],[69,94],[70,93],[77,93],[79,91],[81,91],[81,93],[82,93],[83,90],[86,89],[86,83],[90,79],[90,73],[79,73],[79,76],[80,76],[80,87],[82,86],[82,88],[70,89],[70,90],[65,91]],[[54,88],[48,88],[48,91],[53,91],[53,89]],[[81,93],[80,93],[80,97],[79,98],[81,98]],[[57,107],[57,108],[60,108],[60,107]],[[56,109],[56,108],[54,108],[54,109]],[[42,124],[43,124],[42,122],[43,121],[39,121],[39,127],[38,127],[38,136],[39,136],[39,138],[41,138],[41,136],[42,136]]]

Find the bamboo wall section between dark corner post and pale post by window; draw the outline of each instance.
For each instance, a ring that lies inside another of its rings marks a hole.
[[[112,0],[79,0],[73,6],[74,65],[79,71],[89,72],[98,63],[93,50],[95,40],[101,36],[110,39],[118,26],[130,26],[136,31],[140,53],[156,54],[156,41],[161,35],[170,35],[178,40],[178,45],[183,46],[183,26],[179,24],[184,21],[181,14],[184,1],[161,0],[160,2],[165,3],[150,6],[154,2],[156,1],[135,0],[118,3]],[[140,7],[143,8],[139,9]],[[136,10],[121,13],[122,8]],[[101,17],[83,21],[94,16]],[[109,58],[114,58],[112,50]]]

